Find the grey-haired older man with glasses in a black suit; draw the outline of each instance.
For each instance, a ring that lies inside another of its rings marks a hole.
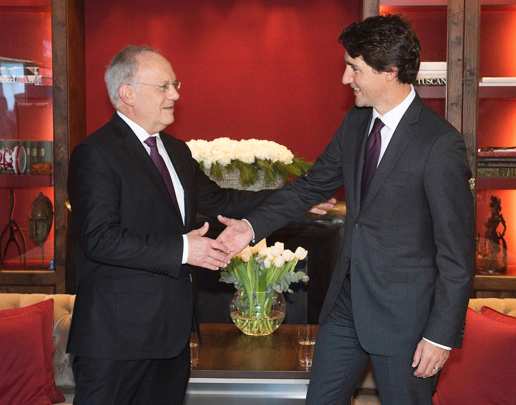
[[[194,323],[189,267],[229,262],[227,248],[204,237],[207,223],[193,229],[196,213],[243,217],[273,192],[219,188],[184,142],[162,132],[181,83],[157,52],[127,46],[105,80],[117,112],[74,149],[68,176],[80,244],[68,341],[74,403],[182,403]]]

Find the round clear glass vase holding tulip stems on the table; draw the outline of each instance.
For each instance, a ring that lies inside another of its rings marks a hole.
[[[235,291],[229,304],[233,323],[246,335],[270,335],[285,318],[286,303],[282,293],[276,291]]]

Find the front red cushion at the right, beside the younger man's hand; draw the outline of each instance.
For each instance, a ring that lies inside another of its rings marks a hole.
[[[516,326],[467,308],[462,349],[451,349],[435,405],[516,403]]]

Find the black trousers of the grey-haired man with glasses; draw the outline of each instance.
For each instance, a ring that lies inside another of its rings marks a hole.
[[[190,345],[171,359],[105,360],[76,356],[74,405],[183,403],[190,376]]]

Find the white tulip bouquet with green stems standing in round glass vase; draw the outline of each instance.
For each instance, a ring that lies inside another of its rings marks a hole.
[[[299,246],[292,252],[285,249],[283,243],[267,246],[264,241],[246,247],[231,259],[225,271],[220,272],[219,281],[234,284],[241,291],[235,298],[239,301],[235,303],[239,308],[238,314],[231,313],[231,318],[241,331],[249,335],[273,332],[285,317],[284,312],[272,314],[273,297],[283,291],[293,292],[289,288],[291,283],[309,280],[304,272],[294,271],[297,262],[307,257],[308,252],[304,248]],[[281,318],[279,321],[278,317]]]

